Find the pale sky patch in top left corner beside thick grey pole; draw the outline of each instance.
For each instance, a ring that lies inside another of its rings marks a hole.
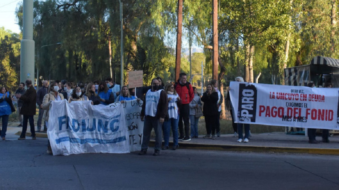
[[[16,21],[15,8],[22,0],[0,0],[0,27],[20,33],[20,28]]]

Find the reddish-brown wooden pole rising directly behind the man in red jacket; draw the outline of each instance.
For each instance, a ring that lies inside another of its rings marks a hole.
[[[178,29],[177,29],[177,48],[175,58],[175,80],[179,79],[180,59],[181,59],[181,35],[182,35],[182,0],[178,0]]]

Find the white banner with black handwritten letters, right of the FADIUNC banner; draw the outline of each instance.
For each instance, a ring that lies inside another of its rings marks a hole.
[[[125,112],[126,129],[128,131],[129,151],[141,150],[142,133],[144,129],[144,122],[140,119],[142,101],[128,100],[122,103]],[[120,103],[112,103],[108,106],[116,106]]]

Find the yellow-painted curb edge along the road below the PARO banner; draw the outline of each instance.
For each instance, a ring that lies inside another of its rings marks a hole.
[[[149,144],[154,146],[155,140],[150,140]],[[243,151],[243,152],[266,152],[266,153],[306,153],[319,155],[339,155],[339,149],[333,148],[295,148],[295,147],[272,147],[272,146],[237,146],[220,144],[195,144],[178,143],[179,148],[199,149],[199,150],[224,150],[224,151]],[[169,143],[173,146],[173,143]]]

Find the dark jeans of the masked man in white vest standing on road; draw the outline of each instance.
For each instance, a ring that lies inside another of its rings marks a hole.
[[[161,149],[162,130],[161,130],[160,119],[156,117],[151,117],[151,116],[144,117],[144,130],[143,130],[142,144],[141,144],[142,149],[148,149],[149,138],[151,138],[151,132],[153,128],[155,132],[154,149],[155,150]]]

